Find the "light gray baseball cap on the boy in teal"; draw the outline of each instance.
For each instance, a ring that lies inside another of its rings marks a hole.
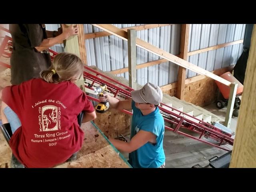
[[[137,103],[160,104],[163,99],[163,93],[159,86],[152,83],[145,84],[140,90],[132,91],[132,100]]]

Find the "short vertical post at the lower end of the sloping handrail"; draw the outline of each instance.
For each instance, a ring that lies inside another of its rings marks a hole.
[[[233,109],[234,109],[234,104],[235,104],[235,99],[236,99],[236,90],[237,90],[237,83],[232,83],[230,85],[230,93],[229,93],[229,98],[228,98],[228,107],[227,107],[227,112],[226,112],[226,118],[224,122],[224,126],[227,128],[230,128],[230,122],[233,114]]]

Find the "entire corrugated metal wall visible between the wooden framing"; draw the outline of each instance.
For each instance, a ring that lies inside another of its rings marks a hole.
[[[139,26],[142,24],[114,24],[118,28]],[[47,30],[57,30],[59,24],[47,24]],[[232,42],[244,38],[245,24],[190,24],[188,52]],[[102,30],[84,24],[84,32],[100,32]],[[179,53],[180,24],[137,31],[137,37],[174,55]],[[104,36],[86,40],[88,65],[94,65],[103,71],[112,71],[128,67],[127,42],[116,36]],[[63,45],[52,48],[62,52]],[[243,44],[236,44],[218,50],[212,50],[188,57],[188,61],[208,71],[236,64],[243,50]],[[161,59],[142,48],[137,47],[137,64]],[[163,86],[177,81],[178,65],[166,62],[137,70],[137,81]],[[128,79],[128,72],[118,74]],[[186,78],[196,76],[195,72],[186,71]]]

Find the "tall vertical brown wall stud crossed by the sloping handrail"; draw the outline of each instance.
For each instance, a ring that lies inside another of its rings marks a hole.
[[[187,60],[188,54],[188,30],[189,24],[182,24],[180,30],[180,55],[179,58]],[[186,79],[186,68],[179,66],[178,69],[178,87],[176,97],[184,100],[184,89]]]

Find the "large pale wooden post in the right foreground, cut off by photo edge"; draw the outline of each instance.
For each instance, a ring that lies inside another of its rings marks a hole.
[[[256,27],[252,31],[230,168],[256,167]]]

